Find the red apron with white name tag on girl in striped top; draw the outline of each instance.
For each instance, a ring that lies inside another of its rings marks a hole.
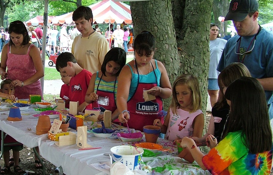
[[[102,75],[103,74],[101,74],[100,80],[98,82],[97,92],[96,92],[96,94],[98,95],[98,103],[92,102],[92,106],[93,106],[93,109],[97,109],[97,110],[100,109],[101,110],[100,114],[103,114],[105,110],[110,110],[113,113],[117,108],[116,102],[115,102],[116,80],[115,80],[113,92],[106,92],[106,91],[99,90],[98,87],[101,83]],[[99,107],[98,107],[98,104],[99,104]],[[94,107],[94,106],[97,106],[97,107]],[[116,119],[115,121],[119,122],[118,119]]]

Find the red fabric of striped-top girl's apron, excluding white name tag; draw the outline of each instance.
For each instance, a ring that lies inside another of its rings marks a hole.
[[[102,75],[101,75],[101,78],[102,78]],[[117,108],[116,107],[116,102],[115,102],[116,80],[115,80],[115,85],[114,85],[113,92],[106,92],[106,91],[101,91],[101,90],[98,89],[98,87],[100,85],[100,82],[101,82],[101,78],[100,78],[98,86],[97,86],[97,92],[96,92],[96,94],[98,95],[98,97],[108,97],[109,98],[109,104],[107,106],[99,104],[99,107],[98,107],[98,103],[97,102],[92,102],[93,109],[100,109],[101,110],[100,114],[103,114],[103,112],[105,110],[110,110],[113,113],[116,110],[116,108]],[[97,106],[97,107],[94,107],[94,106]],[[115,121],[119,122],[118,119],[116,119]]]

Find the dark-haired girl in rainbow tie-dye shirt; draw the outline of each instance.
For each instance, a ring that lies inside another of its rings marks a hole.
[[[272,132],[264,89],[258,80],[242,77],[227,88],[225,97],[231,113],[223,140],[217,144],[209,135],[207,145],[212,149],[208,155],[188,137],[181,146],[189,147],[201,168],[212,174],[270,174]]]

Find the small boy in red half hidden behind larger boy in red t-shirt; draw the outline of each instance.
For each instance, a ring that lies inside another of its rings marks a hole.
[[[64,82],[64,84],[61,87],[60,92],[60,98],[65,100],[65,107],[69,109],[69,84],[71,76],[68,76],[66,73],[60,73],[61,74],[61,80]]]

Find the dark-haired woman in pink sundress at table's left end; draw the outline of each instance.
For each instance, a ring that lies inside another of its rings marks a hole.
[[[1,54],[1,79],[13,80],[10,86],[14,87],[14,96],[18,99],[28,99],[29,95],[42,96],[40,78],[44,76],[44,69],[40,50],[29,43],[28,31],[22,21],[11,22],[9,34],[10,41],[3,47]],[[39,151],[38,147],[36,150]],[[35,166],[42,168],[36,155]]]

